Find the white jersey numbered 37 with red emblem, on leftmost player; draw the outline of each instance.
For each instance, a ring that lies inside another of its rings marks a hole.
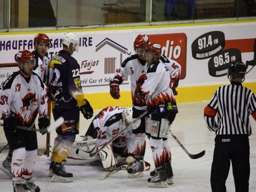
[[[0,90],[0,118],[13,112],[18,124],[30,126],[38,114],[47,115],[46,89],[37,74],[25,78],[14,72]]]

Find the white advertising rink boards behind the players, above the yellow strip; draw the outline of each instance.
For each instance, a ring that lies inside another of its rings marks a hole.
[[[224,34],[224,43],[226,42],[226,46],[222,46],[222,49],[240,49],[240,59],[243,62],[254,58],[253,42],[255,38],[256,22],[126,30],[74,30],[73,32],[80,38],[80,48],[79,52],[75,52],[73,56],[78,60],[78,64],[80,64],[80,78],[84,93],[109,91],[108,84],[110,79],[114,76],[115,68],[120,66],[122,61],[129,55],[134,54],[133,42],[138,34],[148,34],[149,40],[152,39],[152,35],[158,36],[154,41],[162,45],[164,54],[182,64],[183,74],[179,86],[210,85],[226,82],[225,74],[218,77],[210,75],[208,70],[210,58],[195,59],[192,57],[192,43],[196,41],[199,36],[216,31]],[[18,50],[34,50],[32,41],[36,33],[0,35],[0,64],[15,62],[14,58]],[[51,39],[51,47],[48,51],[51,57],[62,49],[60,39],[64,32],[50,31],[46,34]],[[166,34],[166,36],[163,36],[163,34]],[[214,34],[210,34],[200,38],[200,44],[199,42],[196,43],[198,47],[202,47],[201,50],[204,50],[211,46],[218,46],[218,44],[221,43],[221,39],[214,38]],[[232,44],[231,47],[230,43]],[[228,45],[229,47],[227,47]],[[212,50],[216,49],[212,48]],[[213,57],[220,52],[223,52],[223,50],[218,50],[218,52],[212,55],[212,60]],[[229,58],[225,58],[225,56]],[[226,62],[232,59],[234,60],[234,58],[232,58],[231,52],[225,56],[223,53],[223,58],[217,58],[219,64],[213,64],[218,67],[226,66],[226,69],[228,65],[223,64],[223,62],[225,62],[225,60]],[[215,59],[214,61],[217,62],[217,60]],[[218,67],[216,67],[216,70]],[[249,66],[249,69],[250,68]],[[222,73],[225,72],[224,70],[219,71]],[[245,82],[256,82],[255,72],[256,68],[253,68],[250,73],[246,75]],[[124,82],[121,89],[129,90],[129,81]]]

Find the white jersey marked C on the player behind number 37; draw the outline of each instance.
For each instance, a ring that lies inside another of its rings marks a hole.
[[[33,71],[38,74],[41,80],[46,83],[48,76],[48,67],[50,63],[50,58],[48,56],[44,56],[42,59],[38,56],[36,51],[32,52],[35,55],[35,66],[33,67]]]

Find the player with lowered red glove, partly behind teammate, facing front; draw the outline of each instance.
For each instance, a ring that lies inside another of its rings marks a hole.
[[[132,118],[137,118],[144,111],[146,111],[146,102],[144,95],[135,97],[135,90],[144,82],[146,74],[146,60],[145,60],[145,47],[148,45],[147,35],[138,35],[134,41],[134,51],[136,54],[129,56],[124,60],[120,68],[116,70],[114,79],[110,82],[110,94],[114,99],[120,98],[119,85],[128,79],[131,80],[132,104],[133,112]],[[140,93],[139,93],[140,94]],[[128,169],[128,177],[142,177],[143,176],[143,159],[146,149],[146,133],[145,133],[145,117],[141,119],[141,124],[137,129],[133,130],[135,134],[135,159],[136,162]]]

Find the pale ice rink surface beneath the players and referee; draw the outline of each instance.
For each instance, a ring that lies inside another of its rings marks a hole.
[[[214,151],[215,132],[210,132],[204,123],[204,107],[207,102],[178,104],[179,113],[172,124],[173,134],[180,140],[191,154],[206,150],[206,154],[193,160],[182,150],[174,138],[169,135],[169,144],[172,148],[172,169],[174,184],[168,188],[150,188],[147,179],[154,169],[152,152],[147,141],[145,160],[150,162],[150,171],[144,172],[142,178],[128,178],[127,172],[120,170],[105,180],[100,180],[108,172],[103,172],[98,163],[84,165],[66,165],[66,171],[72,172],[74,181],[71,183],[54,183],[48,177],[49,158],[40,157],[36,161],[33,176],[42,192],[210,192],[210,170]],[[97,114],[99,110],[95,111]],[[85,120],[80,115],[80,134],[84,135],[91,120]],[[250,192],[256,192],[256,122],[250,117],[252,135],[250,138]],[[55,132],[51,134],[53,145]],[[79,136],[76,140],[82,140]],[[7,151],[0,154],[0,161],[4,160]],[[1,163],[2,164],[2,163]],[[226,181],[228,192],[234,192],[232,167]],[[0,171],[0,192],[12,192],[10,178]]]

